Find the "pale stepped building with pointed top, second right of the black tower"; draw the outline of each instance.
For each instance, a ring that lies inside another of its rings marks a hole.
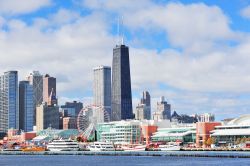
[[[171,120],[171,105],[168,104],[164,97],[161,97],[161,101],[157,102],[157,111],[153,114],[154,120],[169,119]]]

